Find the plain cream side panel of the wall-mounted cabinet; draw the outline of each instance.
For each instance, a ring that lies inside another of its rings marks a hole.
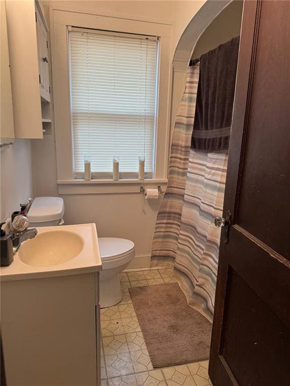
[[[35,8],[34,0],[6,2],[16,138],[43,138]]]

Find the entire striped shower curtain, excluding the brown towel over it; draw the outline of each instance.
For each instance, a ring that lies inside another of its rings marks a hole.
[[[188,68],[176,117],[168,187],[152,247],[152,267],[174,267],[189,306],[212,321],[228,155],[190,150],[198,66]]]

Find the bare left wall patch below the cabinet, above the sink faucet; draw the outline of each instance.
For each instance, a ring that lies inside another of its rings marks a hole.
[[[17,139],[1,150],[1,221],[33,197],[31,141]]]

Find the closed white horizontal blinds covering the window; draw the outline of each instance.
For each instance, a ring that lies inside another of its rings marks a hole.
[[[121,176],[137,176],[139,156],[153,176],[157,52],[157,38],[69,28],[75,177],[86,155],[93,178],[111,175],[113,156]]]

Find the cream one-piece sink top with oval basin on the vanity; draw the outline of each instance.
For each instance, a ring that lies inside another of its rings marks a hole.
[[[102,269],[95,224],[37,228],[24,241],[8,267],[0,268],[1,280],[18,280],[96,272]]]

